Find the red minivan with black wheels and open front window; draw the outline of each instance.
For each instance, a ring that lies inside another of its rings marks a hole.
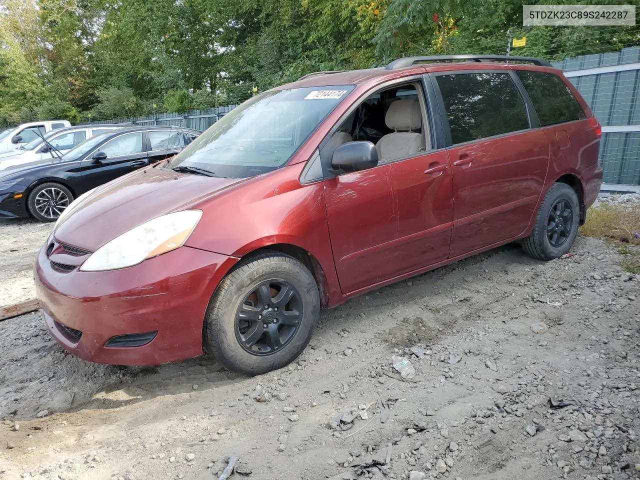
[[[568,252],[600,125],[560,70],[413,57],[260,93],[180,154],[80,196],[35,264],[53,335],[92,362],[209,349],[260,374],[321,307],[522,240]]]

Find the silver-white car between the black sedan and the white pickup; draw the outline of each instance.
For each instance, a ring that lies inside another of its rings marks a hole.
[[[21,145],[14,150],[0,154],[0,170],[10,166],[22,165],[62,156],[87,138],[122,128],[120,125],[79,125],[54,130]]]

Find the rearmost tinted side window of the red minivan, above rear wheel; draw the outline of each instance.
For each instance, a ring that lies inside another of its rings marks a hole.
[[[542,127],[584,118],[578,100],[557,75],[527,70],[517,70],[516,74],[529,93]]]

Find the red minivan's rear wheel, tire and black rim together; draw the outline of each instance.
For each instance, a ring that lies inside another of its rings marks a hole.
[[[568,253],[578,234],[580,205],[573,188],[555,183],[547,191],[531,235],[522,240],[522,248],[538,260],[553,260]]]

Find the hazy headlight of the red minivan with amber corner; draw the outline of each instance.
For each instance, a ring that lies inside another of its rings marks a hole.
[[[184,243],[202,217],[200,210],[184,210],[146,221],[101,246],[80,267],[83,271],[131,267],[171,252]]]

